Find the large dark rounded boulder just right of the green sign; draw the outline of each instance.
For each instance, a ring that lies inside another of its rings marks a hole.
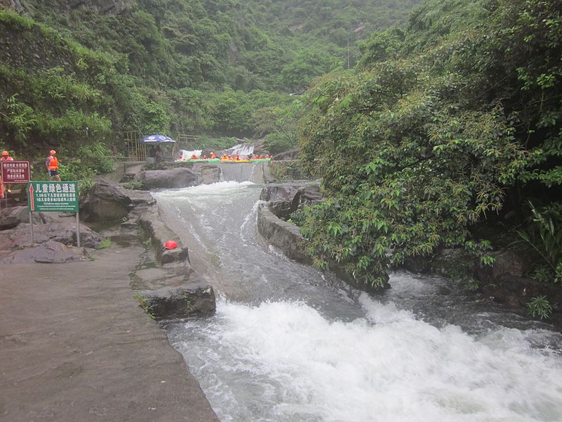
[[[133,207],[133,202],[117,186],[100,179],[80,204],[80,218],[85,222],[115,222]]]

